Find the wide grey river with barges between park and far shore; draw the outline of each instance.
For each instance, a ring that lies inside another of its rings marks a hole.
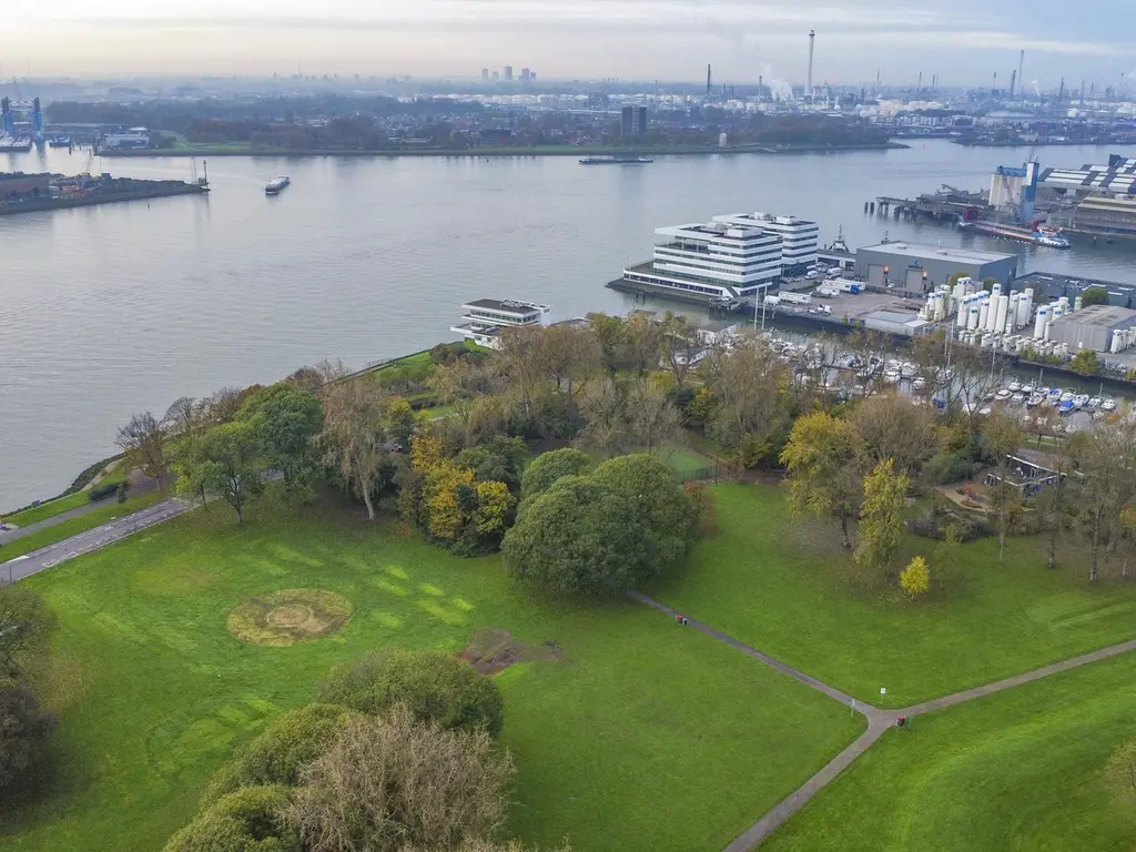
[[[1103,148],[1042,149],[1047,165]],[[1118,151],[1119,152],[1119,151]],[[1026,254],[1025,269],[1136,283],[1119,245],[1068,252],[863,212],[877,195],[987,186],[1018,149],[945,141],[840,154],[663,157],[583,168],[575,158],[216,158],[212,192],[0,218],[0,509],[65,488],[115,451],[132,412],[268,383],[324,358],[362,366],[452,340],[478,296],[624,311],[604,287],[650,257],[653,231],[734,211],[816,219],[822,242],[885,232]],[[0,170],[189,179],[181,158],[0,154]],[[201,168],[200,161],[198,168]],[[266,198],[265,183],[292,186]]]

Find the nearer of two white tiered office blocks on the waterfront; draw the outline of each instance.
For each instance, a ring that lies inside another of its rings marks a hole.
[[[666,239],[654,247],[653,260],[625,269],[625,281],[730,300],[780,276],[780,237],[758,228],[711,222],[654,233]]]

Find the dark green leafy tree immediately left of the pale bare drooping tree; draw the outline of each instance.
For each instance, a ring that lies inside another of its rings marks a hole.
[[[306,483],[315,468],[315,437],[324,423],[319,399],[291,384],[257,392],[239,417],[256,431],[265,462],[278,470],[287,486]]]

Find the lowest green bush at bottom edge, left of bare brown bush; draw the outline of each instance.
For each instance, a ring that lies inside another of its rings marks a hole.
[[[199,813],[166,844],[165,852],[300,852],[284,821],[287,787],[242,787]]]

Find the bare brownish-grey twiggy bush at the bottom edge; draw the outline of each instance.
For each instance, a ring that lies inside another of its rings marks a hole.
[[[501,827],[512,774],[486,732],[445,730],[398,704],[344,725],[286,818],[307,852],[460,849]]]

